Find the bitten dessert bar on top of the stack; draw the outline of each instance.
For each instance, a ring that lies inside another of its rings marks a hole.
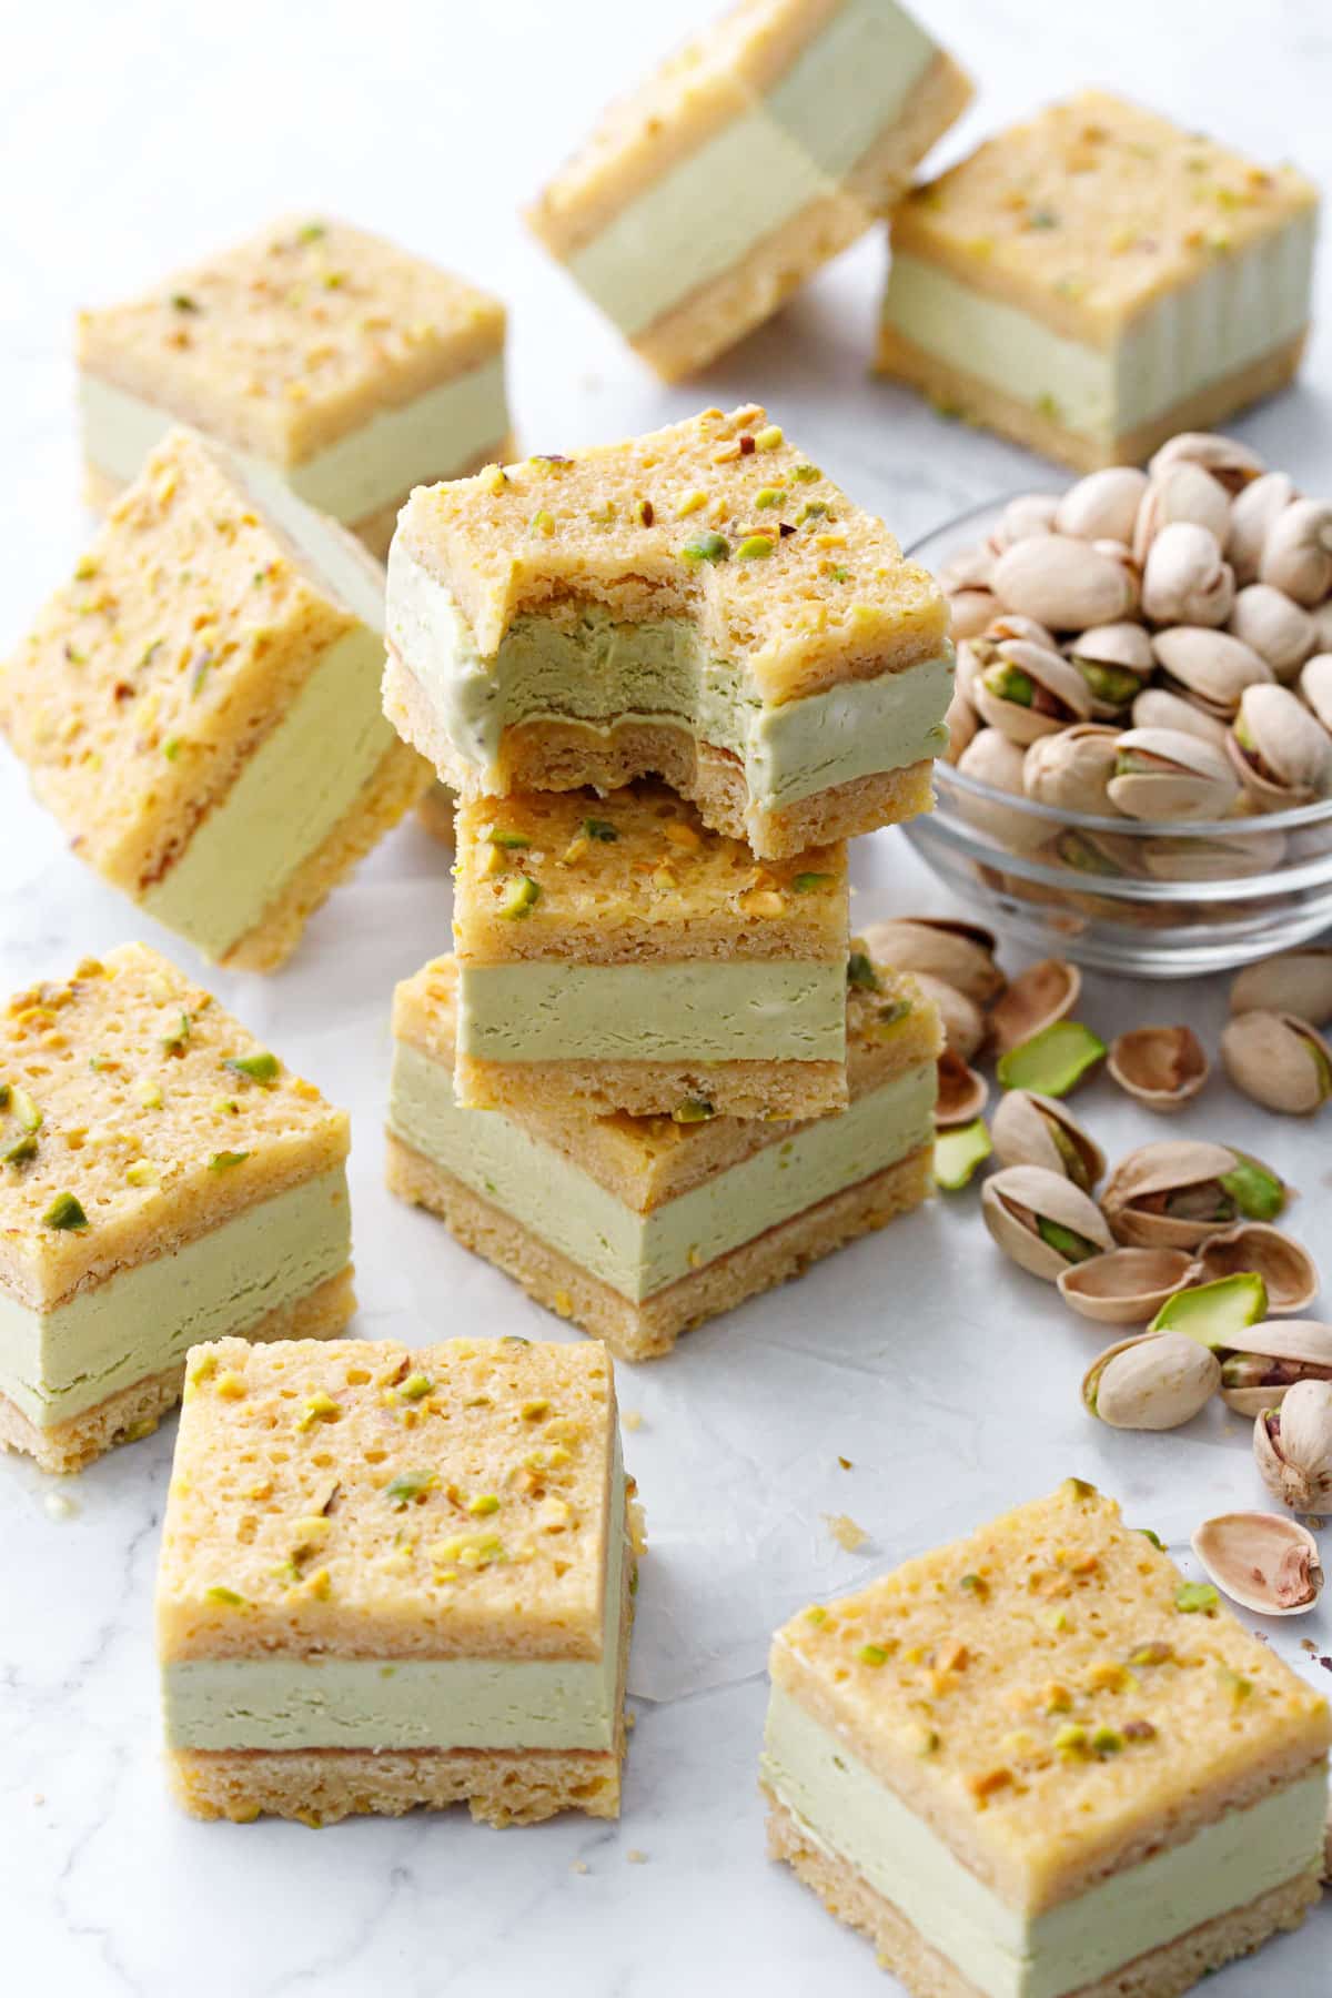
[[[931,803],[949,609],[751,404],[417,490],[385,713],[463,797],[659,775],[757,855]]]

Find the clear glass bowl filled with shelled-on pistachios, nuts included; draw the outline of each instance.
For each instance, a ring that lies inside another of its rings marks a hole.
[[[1232,438],[975,507],[937,809],[907,837],[1024,943],[1192,977],[1332,923],[1332,501]]]

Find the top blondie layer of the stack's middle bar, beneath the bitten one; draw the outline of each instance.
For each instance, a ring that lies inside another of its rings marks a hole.
[[[841,959],[847,845],[755,861],[661,783],[457,807],[459,961]]]

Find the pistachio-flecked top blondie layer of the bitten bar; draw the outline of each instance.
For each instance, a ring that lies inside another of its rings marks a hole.
[[[779,705],[949,639],[933,575],[757,404],[421,486],[397,543],[447,587],[485,659],[517,617],[589,601],[627,623],[697,621],[707,651]]]

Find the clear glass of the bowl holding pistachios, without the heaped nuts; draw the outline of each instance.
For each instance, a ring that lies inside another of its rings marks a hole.
[[[941,569],[1006,501],[909,549]],[[1306,943],[1332,923],[1332,799],[1216,821],[1096,817],[935,765],[937,805],[903,831],[979,917],[1098,971],[1184,979]]]

